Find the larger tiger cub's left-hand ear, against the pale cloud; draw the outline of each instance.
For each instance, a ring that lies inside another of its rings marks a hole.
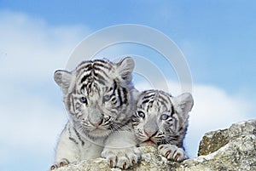
[[[61,87],[63,94],[67,94],[72,81],[72,73],[65,70],[57,70],[55,71],[54,79],[55,83]]]

